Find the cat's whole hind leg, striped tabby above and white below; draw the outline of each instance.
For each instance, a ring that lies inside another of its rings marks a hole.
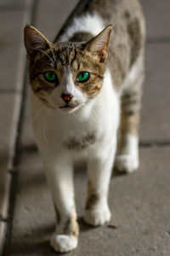
[[[121,124],[115,167],[118,172],[133,172],[139,168],[139,120],[144,72],[122,93]]]

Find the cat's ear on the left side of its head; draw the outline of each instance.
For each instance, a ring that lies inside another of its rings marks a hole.
[[[28,58],[32,59],[38,50],[49,49],[49,41],[35,27],[27,25],[24,29],[24,40]]]

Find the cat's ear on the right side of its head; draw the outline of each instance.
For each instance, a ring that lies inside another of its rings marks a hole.
[[[99,55],[101,62],[104,62],[107,58],[107,48],[109,46],[111,32],[112,26],[106,26],[102,32],[100,32],[95,38],[92,38],[86,44],[85,48],[93,54]]]

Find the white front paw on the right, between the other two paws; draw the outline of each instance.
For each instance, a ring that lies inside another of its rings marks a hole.
[[[111,212],[109,207],[86,210],[84,213],[85,222],[94,226],[105,224],[110,219]]]

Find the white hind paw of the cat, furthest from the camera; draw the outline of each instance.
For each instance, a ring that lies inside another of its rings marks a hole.
[[[139,168],[139,157],[131,154],[117,155],[115,167],[118,172],[134,172]]]

